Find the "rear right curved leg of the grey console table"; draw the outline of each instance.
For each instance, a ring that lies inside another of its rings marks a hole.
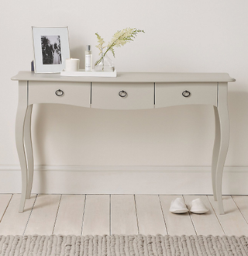
[[[219,113],[216,106],[214,106],[215,113],[215,144],[214,149],[212,151],[212,191],[214,194],[215,201],[217,200],[216,196],[216,168],[217,162],[219,158],[219,143],[220,143],[220,126],[219,126]]]

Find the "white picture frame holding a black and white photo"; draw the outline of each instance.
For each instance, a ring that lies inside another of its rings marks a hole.
[[[60,73],[70,58],[68,27],[32,27],[34,71]]]

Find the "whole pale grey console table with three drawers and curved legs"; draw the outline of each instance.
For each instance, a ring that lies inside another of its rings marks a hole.
[[[228,82],[226,73],[119,73],[116,78],[62,77],[20,71],[15,140],[22,170],[19,212],[30,198],[33,184],[31,113],[33,104],[59,103],[96,109],[156,109],[178,105],[210,105],[215,114],[212,188],[222,204],[222,171],[229,145]]]

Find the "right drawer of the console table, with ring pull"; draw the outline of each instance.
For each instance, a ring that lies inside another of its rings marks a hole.
[[[155,108],[191,104],[217,106],[217,83],[155,84]]]

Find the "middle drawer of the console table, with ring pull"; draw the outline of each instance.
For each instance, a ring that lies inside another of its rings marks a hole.
[[[153,83],[92,83],[95,109],[153,109]]]

